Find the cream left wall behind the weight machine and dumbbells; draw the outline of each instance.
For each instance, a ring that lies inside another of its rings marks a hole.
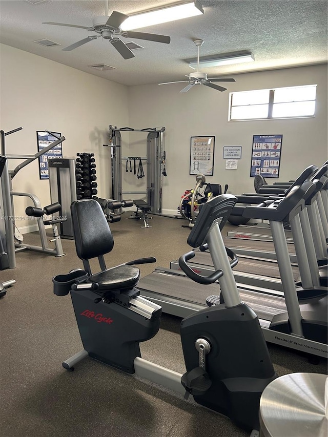
[[[50,49],[51,50],[51,49]],[[36,131],[60,132],[64,158],[94,153],[98,196],[110,195],[108,126],[127,126],[128,89],[31,53],[0,45],[0,129],[22,131],[6,137],[6,153],[35,154]],[[10,160],[9,169],[22,161]],[[35,160],[13,179],[13,190],[31,192],[42,205],[50,203],[49,181],[39,180]],[[15,216],[25,217],[28,199],[15,200]],[[17,222],[24,232],[31,222]],[[35,223],[35,222],[34,222]]]

